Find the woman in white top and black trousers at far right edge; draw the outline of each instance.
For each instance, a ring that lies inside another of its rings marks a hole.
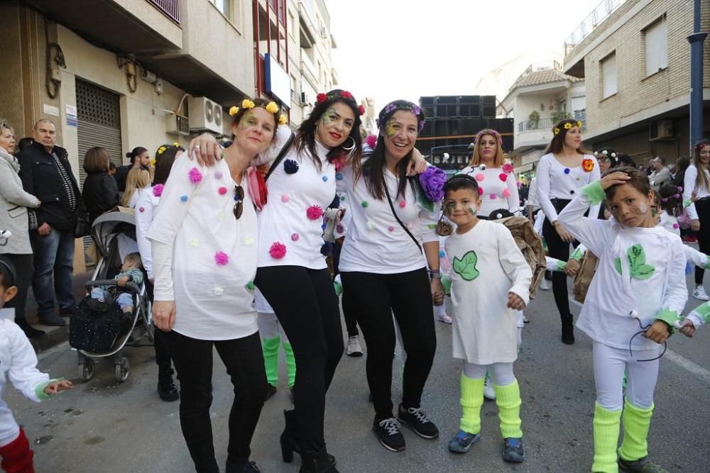
[[[693,163],[686,169],[683,179],[683,201],[692,201],[693,193],[697,200],[688,206],[691,218],[690,228],[698,232],[698,248],[701,252],[710,252],[710,141],[700,140],[693,147]],[[703,287],[705,269],[695,267],[695,290],[693,297],[700,301],[709,301],[710,296]]]

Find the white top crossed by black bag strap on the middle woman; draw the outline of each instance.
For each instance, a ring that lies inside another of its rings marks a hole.
[[[354,184],[351,166],[341,169],[341,174],[342,179],[337,181],[339,197],[341,205],[348,206],[351,218],[340,254],[340,271],[395,274],[426,267],[425,255],[393,216],[387,197],[373,197],[364,177]],[[397,216],[419,244],[438,242],[435,228],[440,204],[434,204],[433,211],[427,209],[423,197],[409,183],[405,194],[398,196],[398,177],[389,169],[385,169],[384,177]]]

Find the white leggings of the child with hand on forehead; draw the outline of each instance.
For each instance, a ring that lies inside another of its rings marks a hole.
[[[639,335],[640,336],[640,335]],[[607,411],[618,411],[623,407],[623,373],[626,379],[626,399],[634,407],[648,409],[653,405],[653,390],[658,379],[658,360],[638,362],[658,356],[658,348],[653,350],[628,350],[612,348],[594,342],[594,383],[596,401]]]

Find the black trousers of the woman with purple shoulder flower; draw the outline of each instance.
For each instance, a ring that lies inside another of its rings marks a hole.
[[[342,272],[367,344],[367,382],[379,420],[392,417],[392,360],[395,352],[394,312],[407,360],[402,404],[418,408],[432,369],[437,338],[426,269],[399,274]]]

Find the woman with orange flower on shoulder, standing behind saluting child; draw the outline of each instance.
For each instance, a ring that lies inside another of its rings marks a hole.
[[[542,236],[550,257],[569,259],[569,245],[574,237],[557,220],[557,213],[574,199],[579,189],[594,182],[601,173],[594,155],[581,145],[581,121],[565,118],[552,128],[552,141],[537,165],[537,201],[545,212]],[[589,215],[599,216],[599,205],[591,206]],[[567,274],[552,273],[552,292],[562,320],[562,343],[574,343],[574,325],[569,312]]]

